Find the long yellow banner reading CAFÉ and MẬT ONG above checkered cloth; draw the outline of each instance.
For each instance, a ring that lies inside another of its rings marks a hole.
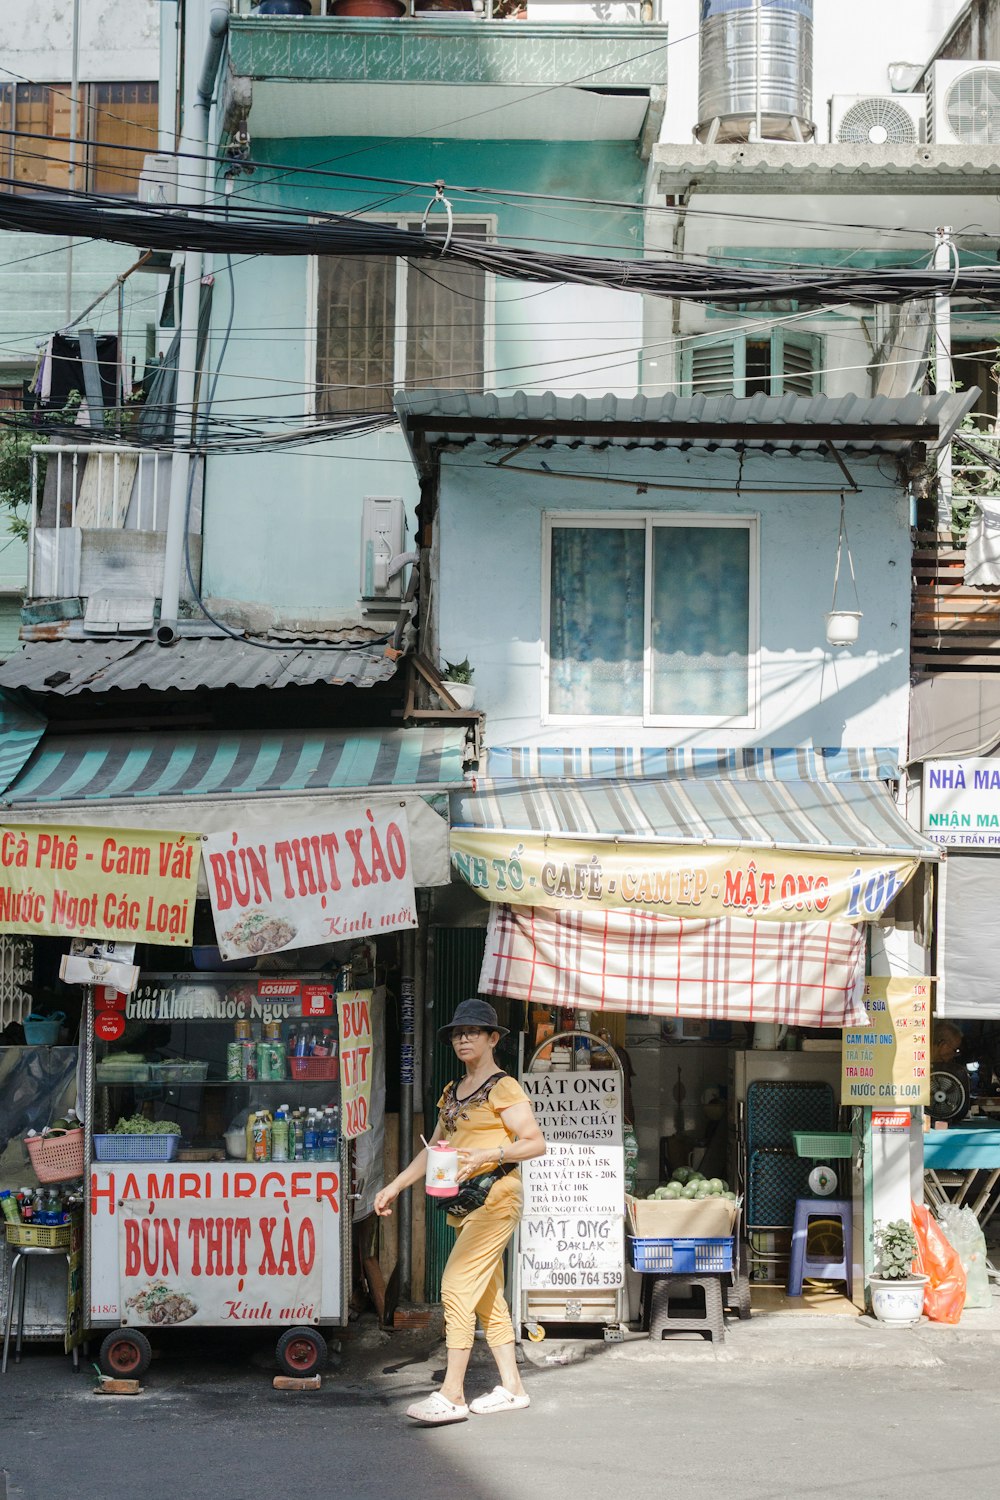
[[[451,831],[454,872],[484,900],[555,910],[615,908],[660,916],[870,922],[900,894],[918,862]]]

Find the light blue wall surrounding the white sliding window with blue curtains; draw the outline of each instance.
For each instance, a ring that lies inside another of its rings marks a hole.
[[[477,708],[487,714],[490,744],[579,746],[900,746],[906,740],[909,686],[909,555],[906,495],[891,458],[852,465],[864,494],[847,504],[858,591],[864,610],[859,645],[834,652],[825,639],[837,555],[837,495],[697,494],[699,482],[735,486],[738,458],[721,452],[678,454],[612,448],[550,450],[555,470],[597,476],[594,484],[489,468],[483,448],[442,458],[438,520],[438,652],[469,657]],[[832,462],[748,458],[747,486],[829,486]],[[690,484],[694,494],[609,489],[603,477],[654,477]],[[546,724],[541,704],[541,536],[546,512],[699,510],[760,516],[760,711],[751,729]],[[841,597],[843,604],[843,597]],[[850,606],[844,606],[850,608]]]

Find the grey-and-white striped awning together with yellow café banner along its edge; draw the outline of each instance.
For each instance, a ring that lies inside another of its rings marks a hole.
[[[937,848],[882,782],[492,782],[451,794],[487,902],[768,922],[877,921]]]

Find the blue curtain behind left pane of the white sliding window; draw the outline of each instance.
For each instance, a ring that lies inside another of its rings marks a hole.
[[[549,712],[642,717],[645,531],[552,528]]]

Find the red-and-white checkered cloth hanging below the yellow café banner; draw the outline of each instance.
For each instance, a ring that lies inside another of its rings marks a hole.
[[[867,1026],[865,928],[492,906],[483,994],[631,1016]]]

